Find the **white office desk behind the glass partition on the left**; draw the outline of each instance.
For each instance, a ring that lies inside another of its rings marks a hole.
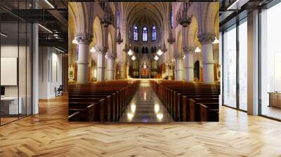
[[[18,100],[20,100],[20,103],[18,103]],[[5,114],[21,114],[22,97],[1,97],[1,110]]]

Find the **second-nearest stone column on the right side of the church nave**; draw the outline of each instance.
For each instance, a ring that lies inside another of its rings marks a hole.
[[[185,53],[185,81],[194,80],[193,51],[192,47],[183,48]]]

